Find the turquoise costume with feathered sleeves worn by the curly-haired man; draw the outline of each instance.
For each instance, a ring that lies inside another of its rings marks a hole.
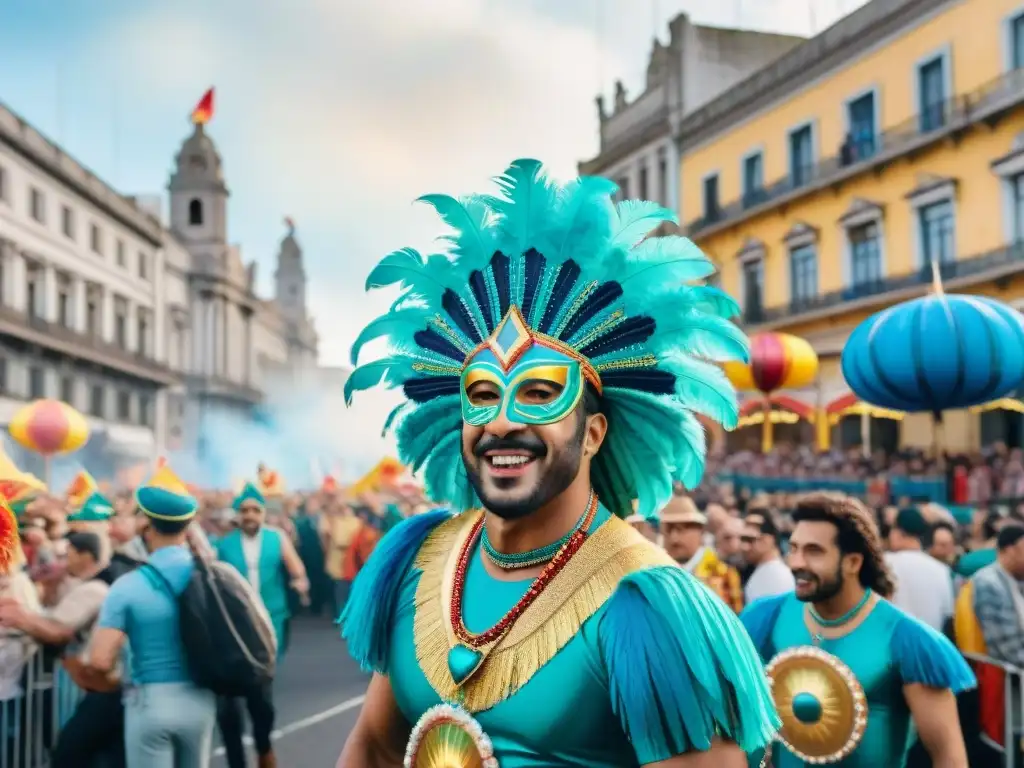
[[[740,621],[765,664],[777,653],[813,645],[804,621],[806,603],[792,592],[752,603]],[[903,686],[921,683],[959,693],[975,685],[974,675],[945,637],[887,600],[848,635],[824,639],[818,647],[844,662],[864,689],[867,726],[857,749],[833,765],[842,768],[900,768],[913,741],[913,723]],[[804,768],[781,744],[775,768]]]

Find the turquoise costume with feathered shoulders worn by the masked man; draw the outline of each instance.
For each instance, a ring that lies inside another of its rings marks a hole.
[[[413,559],[425,539],[453,524],[463,522],[437,511],[390,531],[355,581],[343,617],[349,652],[366,669],[389,677],[411,724],[442,701],[417,658],[414,625],[423,609],[417,605],[423,573]],[[517,691],[473,713],[501,767],[642,766],[707,750],[717,735],[748,752],[763,746],[777,719],[760,659],[735,615],[601,509],[592,531],[605,526],[630,536],[631,547],[646,554],[645,566],[626,575]],[[495,624],[529,582],[493,579],[476,547],[464,620],[479,631]]]

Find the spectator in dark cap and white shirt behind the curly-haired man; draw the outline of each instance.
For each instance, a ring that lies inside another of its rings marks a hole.
[[[928,532],[928,521],[918,509],[901,509],[889,530],[886,562],[896,577],[892,602],[942,632],[953,614],[953,578],[948,565],[925,552]]]

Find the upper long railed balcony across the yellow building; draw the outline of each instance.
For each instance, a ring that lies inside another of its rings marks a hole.
[[[943,139],[957,138],[972,126],[993,126],[1022,103],[1024,70],[1008,72],[980,88],[914,115],[873,138],[841,147],[833,157],[750,190],[728,205],[717,206],[710,214],[690,221],[686,233],[691,238],[707,238],[779,206],[836,187],[859,174],[881,172],[900,158],[912,157]],[[683,170],[685,172],[685,167]]]

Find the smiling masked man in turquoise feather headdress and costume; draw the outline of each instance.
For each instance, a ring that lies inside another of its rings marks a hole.
[[[744,359],[735,303],[674,215],[520,160],[501,194],[431,195],[450,252],[403,249],[368,288],[387,337],[346,396],[400,386],[403,462],[451,511],[378,545],[341,616],[374,677],[342,768],[746,765],[778,725],[737,617],[623,518],[695,485],[735,425],[713,360]]]

